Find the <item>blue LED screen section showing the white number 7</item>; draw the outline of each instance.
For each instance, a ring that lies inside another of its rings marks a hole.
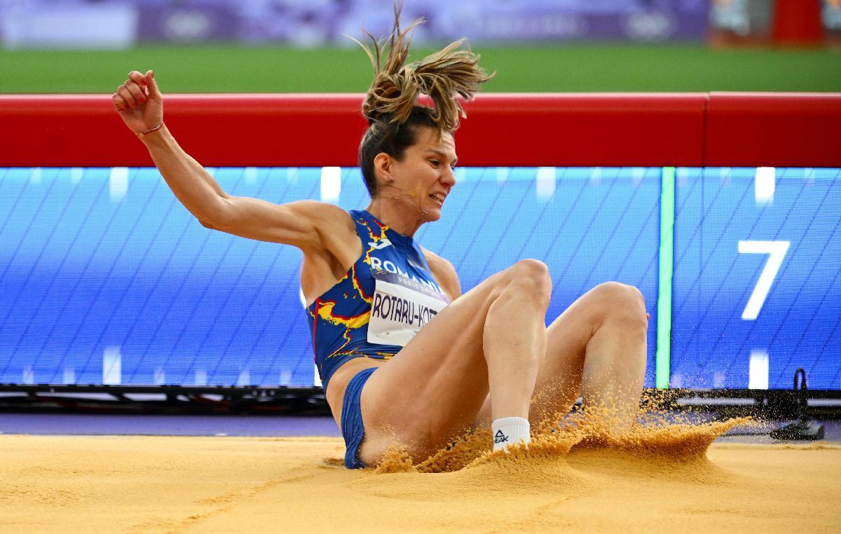
[[[670,384],[841,389],[841,170],[678,169]]]

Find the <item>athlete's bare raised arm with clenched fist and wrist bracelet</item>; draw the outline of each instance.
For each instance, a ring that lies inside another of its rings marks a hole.
[[[332,204],[302,201],[272,204],[233,197],[177,144],[163,122],[163,99],[154,73],[131,71],[112,98],[125,125],[140,137],[181,204],[202,225],[259,241],[301,249],[320,247],[324,225],[341,224],[344,211]],[[346,223],[345,223],[346,224]]]

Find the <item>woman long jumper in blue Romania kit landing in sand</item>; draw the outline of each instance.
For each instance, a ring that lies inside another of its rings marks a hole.
[[[202,225],[303,251],[315,360],[348,468],[376,465],[394,444],[422,460],[488,423],[495,448],[527,444],[530,421],[565,414],[579,395],[616,410],[627,429],[645,369],[637,288],[602,283],[547,328],[552,281],[542,262],[521,260],[462,294],[452,265],[413,241],[456,185],[456,96],[471,98],[489,78],[462,41],[406,65],[415,24],[395,22],[384,62],[373,37],[363,46],[375,77],[362,104],[371,194],[362,211],[225,193],[167,130],[152,71],[131,71],[114,108]],[[418,104],[421,93],[434,108]]]

